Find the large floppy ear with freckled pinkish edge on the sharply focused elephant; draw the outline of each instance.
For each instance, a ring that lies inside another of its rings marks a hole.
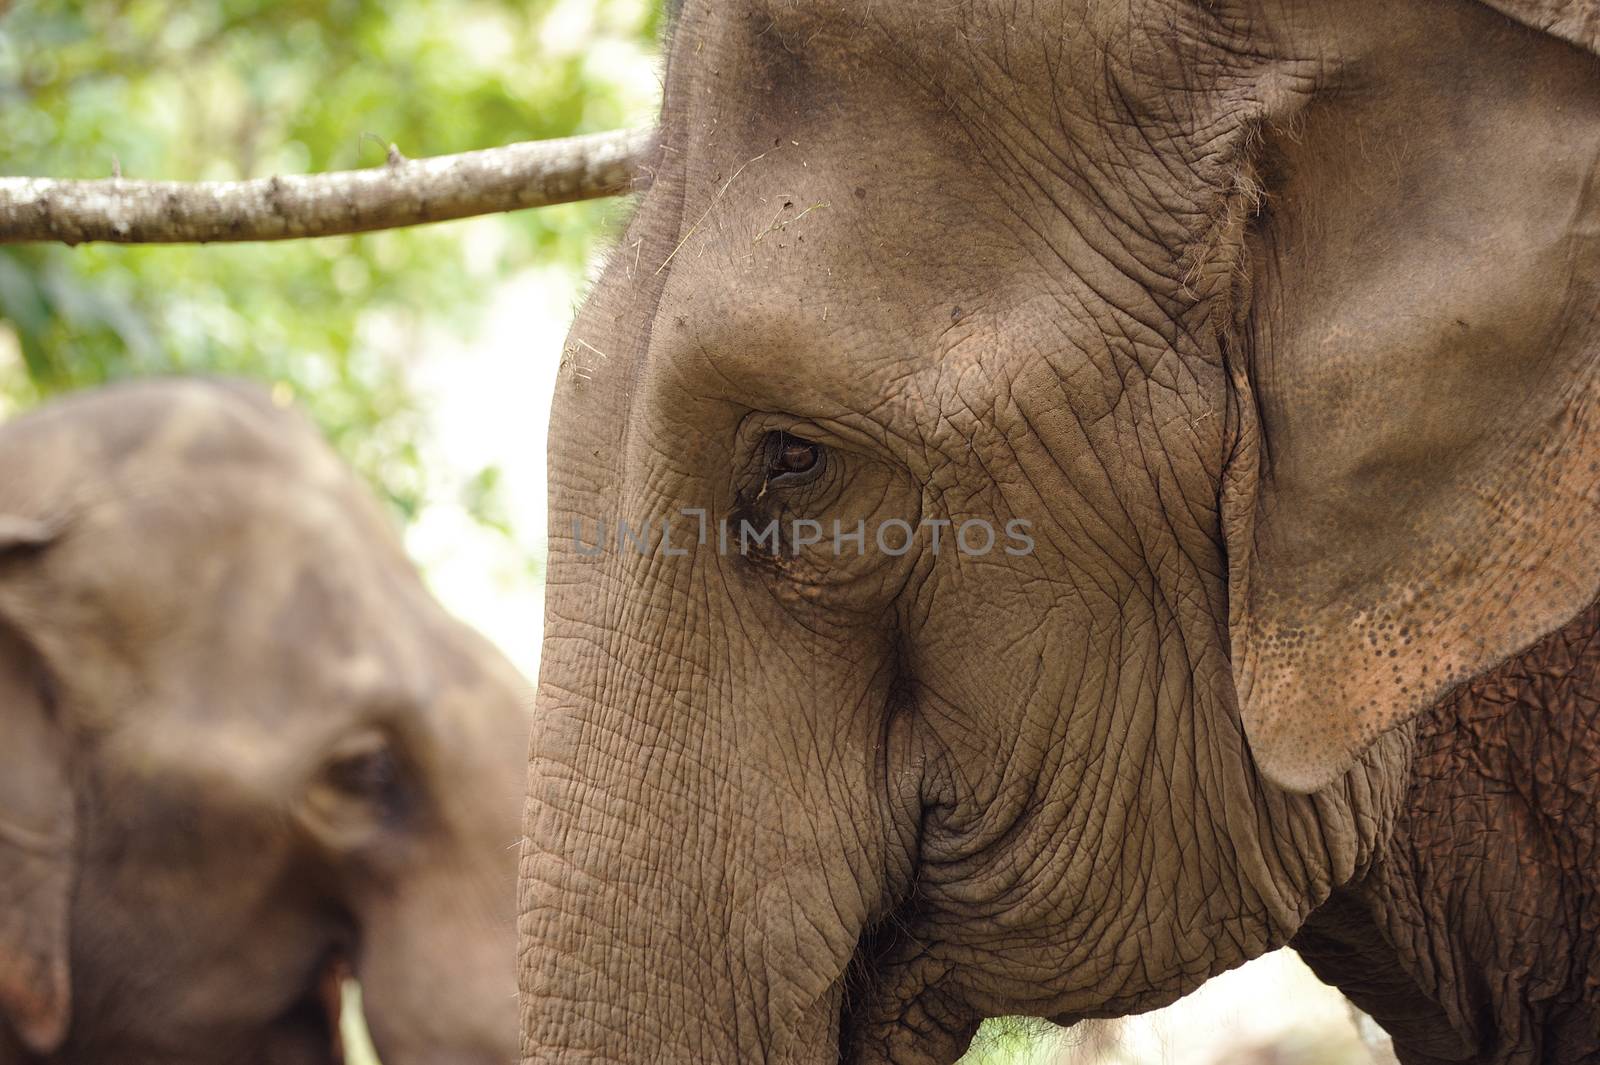
[[[1526,26],[1595,5],[1493,6],[1389,5],[1360,90],[1262,131],[1222,505],[1293,790],[1600,592],[1600,64]]]

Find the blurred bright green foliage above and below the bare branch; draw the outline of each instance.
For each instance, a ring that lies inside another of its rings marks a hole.
[[[237,179],[605,130],[640,115],[616,48],[648,0],[99,0],[0,16],[0,166]],[[0,10],[5,2],[0,0]],[[299,398],[402,515],[427,499],[406,369],[469,336],[493,283],[581,270],[605,205],[208,248],[0,248],[0,409],[138,374],[216,371]],[[10,358],[8,358],[10,357]],[[499,528],[496,473],[464,501]]]

